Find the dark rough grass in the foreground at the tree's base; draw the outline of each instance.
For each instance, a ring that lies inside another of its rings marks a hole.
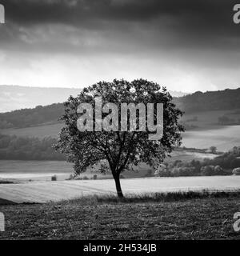
[[[240,191],[92,196],[0,206],[2,239],[239,239]]]

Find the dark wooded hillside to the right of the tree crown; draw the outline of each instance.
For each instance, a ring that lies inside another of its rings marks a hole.
[[[175,104],[186,113],[211,110],[234,110],[240,108],[240,88],[202,93],[197,91],[181,98],[174,98]]]

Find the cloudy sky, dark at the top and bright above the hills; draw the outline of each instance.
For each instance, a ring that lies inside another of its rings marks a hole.
[[[240,87],[237,0],[0,0],[0,84],[147,78],[169,90]]]

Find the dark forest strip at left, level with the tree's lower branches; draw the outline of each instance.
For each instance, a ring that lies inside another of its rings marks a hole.
[[[0,159],[66,160],[53,149],[54,138],[26,138],[0,134]]]

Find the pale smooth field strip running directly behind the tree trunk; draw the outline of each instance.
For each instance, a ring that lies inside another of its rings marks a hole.
[[[240,176],[201,176],[177,178],[123,178],[124,194],[175,191],[240,190]],[[71,180],[0,184],[0,198],[10,202],[58,202],[90,194],[116,194],[113,179]]]

